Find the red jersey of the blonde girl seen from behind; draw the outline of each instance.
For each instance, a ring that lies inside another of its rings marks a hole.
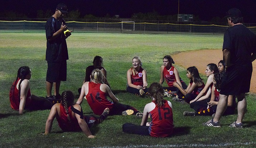
[[[113,108],[113,102],[107,99],[107,93],[100,90],[101,83],[88,83],[88,94],[86,100],[93,113],[101,115],[105,108]]]

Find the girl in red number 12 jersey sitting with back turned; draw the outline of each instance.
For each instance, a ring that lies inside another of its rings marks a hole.
[[[146,104],[140,126],[125,123],[122,130],[126,133],[150,135],[152,137],[168,137],[173,133],[172,103],[163,98],[164,90],[159,83],[152,83],[149,87],[151,103]],[[151,122],[147,123],[148,116]]]

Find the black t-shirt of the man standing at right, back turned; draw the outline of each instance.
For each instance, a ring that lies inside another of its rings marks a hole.
[[[244,25],[234,25],[224,34],[222,50],[230,50],[230,63],[244,65],[251,63],[252,53],[256,53],[256,35]]]

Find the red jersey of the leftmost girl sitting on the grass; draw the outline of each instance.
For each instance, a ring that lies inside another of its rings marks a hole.
[[[20,80],[20,78],[18,78],[17,82]],[[19,98],[19,90],[17,89],[17,85],[19,85],[18,83],[16,83],[16,85],[14,86],[15,82],[13,82],[13,85],[11,86],[11,90],[10,90],[10,102],[11,102],[11,108],[19,111],[19,107],[20,107],[20,98]],[[14,92],[13,92],[14,91]],[[26,95],[26,101],[25,101],[25,107],[28,107],[31,105],[31,92],[30,92],[30,88],[28,89],[28,93]]]

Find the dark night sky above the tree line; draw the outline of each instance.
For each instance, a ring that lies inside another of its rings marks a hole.
[[[129,18],[134,13],[158,12],[159,15],[178,14],[178,0],[1,0],[0,12],[16,11],[35,18],[37,10],[52,10],[63,2],[68,10],[79,10],[81,15],[106,14]],[[256,23],[256,0],[179,0],[179,14],[193,14],[201,20],[224,17],[228,9],[241,10],[245,23]]]

